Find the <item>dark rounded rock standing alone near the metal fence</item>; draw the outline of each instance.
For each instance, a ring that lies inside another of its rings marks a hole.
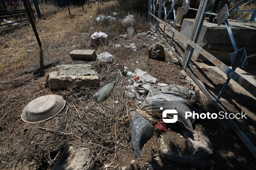
[[[148,48],[148,58],[150,59],[162,59],[165,58],[165,52],[163,45],[157,43]]]

